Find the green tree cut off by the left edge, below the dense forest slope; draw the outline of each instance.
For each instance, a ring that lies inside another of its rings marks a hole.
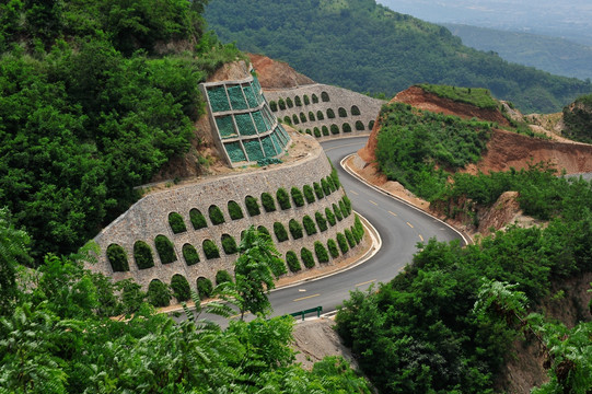
[[[0,315],[5,315],[16,297],[15,271],[19,263],[30,259],[26,252],[28,235],[16,230],[8,208],[0,209]]]

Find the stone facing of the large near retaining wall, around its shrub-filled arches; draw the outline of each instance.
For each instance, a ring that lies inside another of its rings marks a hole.
[[[98,263],[89,266],[94,271],[103,273],[113,277],[114,280],[126,278],[135,279],[139,285],[148,287],[151,280],[160,279],[163,282],[170,283],[171,278],[175,274],[181,274],[187,278],[193,289],[196,289],[196,280],[199,277],[206,277],[212,282],[214,281],[216,273],[220,269],[227,269],[229,273],[233,270],[233,263],[237,255],[227,256],[221,246],[221,235],[230,234],[236,242],[240,242],[241,232],[247,229],[251,224],[265,225],[276,246],[281,252],[282,257],[286,252],[293,250],[300,256],[300,250],[307,247],[314,254],[313,243],[322,241],[326,245],[328,239],[336,239],[337,232],[344,232],[347,228],[353,225],[353,215],[338,221],[335,227],[328,224],[328,230],[317,232],[314,235],[307,236],[304,231],[304,236],[300,240],[290,240],[278,243],[274,235],[274,222],[281,222],[288,230],[290,219],[295,219],[302,223],[305,215],[309,215],[314,220],[315,211],[324,215],[325,207],[330,207],[332,204],[338,204],[344,196],[343,188],[332,193],[329,196],[316,200],[313,204],[305,204],[303,207],[295,208],[292,201],[292,208],[281,210],[276,201],[277,211],[266,213],[262,204],[260,195],[264,192],[271,194],[274,197],[276,190],[280,187],[288,192],[292,186],[297,186],[302,190],[304,185],[312,186],[314,182],[321,183],[322,178],[327,177],[332,167],[321,149],[316,148],[309,152],[306,158],[303,158],[291,164],[282,164],[274,166],[274,169],[259,170],[243,174],[223,176],[218,178],[209,178],[191,185],[172,187],[163,192],[152,193],[138,202],[136,202],[128,211],[117,218],[108,227],[106,227],[94,239],[101,246],[101,255]],[[256,217],[249,217],[245,207],[245,197],[253,196],[259,201],[262,213]],[[232,220],[228,212],[228,201],[236,201],[244,213],[244,218]],[[208,217],[208,209],[211,205],[217,205],[224,213],[225,223],[213,225]],[[194,230],[189,220],[189,210],[193,208],[199,209],[207,219],[208,228]],[[187,231],[174,234],[169,225],[169,213],[179,213],[187,227]],[[289,230],[288,230],[289,233]],[[159,234],[165,235],[171,240],[175,247],[177,260],[171,264],[161,264],[159,255],[154,246],[154,237]],[[220,248],[220,258],[206,259],[202,251],[202,241],[212,240]],[[154,267],[148,269],[138,269],[134,259],[134,244],[137,241],[144,241],[152,248],[154,257]],[[185,243],[189,243],[196,247],[199,253],[200,262],[193,266],[187,266],[182,253],[182,247]],[[120,245],[128,256],[130,270],[128,273],[114,273],[111,264],[106,258],[106,248],[111,244]],[[351,253],[351,252],[349,252]],[[347,257],[340,256],[338,258]],[[316,259],[316,256],[315,256]],[[318,263],[316,263],[318,265]],[[330,264],[330,263],[329,263]],[[303,269],[305,269],[303,267]],[[288,274],[290,275],[290,274]]]

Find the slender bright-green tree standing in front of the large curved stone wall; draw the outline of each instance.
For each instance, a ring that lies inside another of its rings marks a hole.
[[[280,254],[271,239],[253,225],[246,230],[234,266],[234,290],[241,320],[244,320],[247,311],[267,315],[271,310],[267,294],[275,287],[271,266],[280,260]]]

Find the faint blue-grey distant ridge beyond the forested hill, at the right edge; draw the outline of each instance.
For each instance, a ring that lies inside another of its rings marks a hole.
[[[508,61],[535,67],[557,76],[582,80],[592,78],[592,47],[530,33],[453,23],[441,25],[458,36],[464,45],[478,50],[495,51]]]

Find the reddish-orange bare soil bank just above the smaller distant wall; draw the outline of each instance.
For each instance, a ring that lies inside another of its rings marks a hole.
[[[315,83],[282,61],[248,54],[263,89],[286,89]]]

